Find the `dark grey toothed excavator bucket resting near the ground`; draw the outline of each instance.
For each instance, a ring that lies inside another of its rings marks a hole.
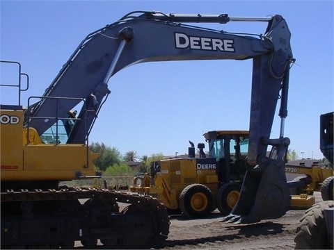
[[[285,165],[269,159],[246,172],[239,199],[223,222],[250,224],[279,218],[285,215],[289,203]]]

